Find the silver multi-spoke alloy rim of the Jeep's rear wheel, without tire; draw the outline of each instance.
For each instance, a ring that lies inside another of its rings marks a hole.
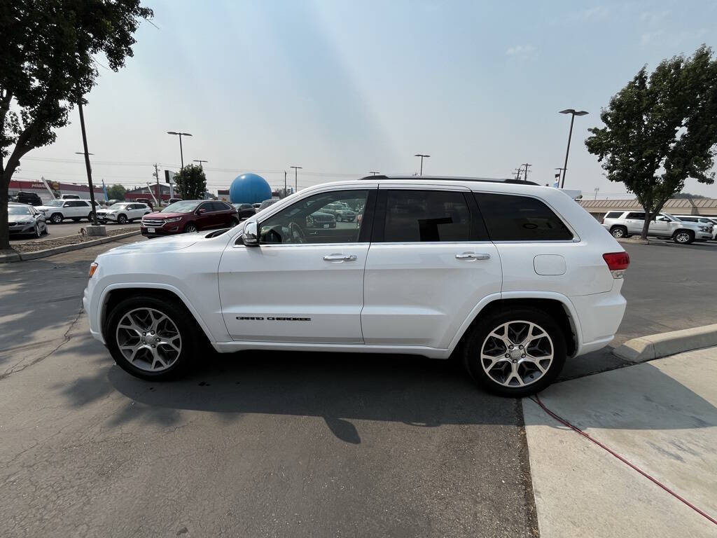
[[[532,321],[508,321],[490,331],[480,348],[480,365],[504,387],[525,387],[553,364],[555,348],[547,331]]]

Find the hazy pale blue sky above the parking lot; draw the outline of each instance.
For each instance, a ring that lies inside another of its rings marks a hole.
[[[576,118],[566,187],[625,192],[588,154],[587,128],[635,72],[717,45],[717,2],[148,0],[118,73],[100,68],[85,120],[98,182],[126,186],[206,159],[207,183],[242,171],[299,187],[363,176],[511,176],[552,183]],[[102,61],[100,59],[100,61]],[[19,178],[85,181],[77,111]],[[717,197],[717,185],[688,181]]]

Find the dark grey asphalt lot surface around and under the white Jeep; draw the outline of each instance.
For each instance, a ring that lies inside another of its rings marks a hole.
[[[382,355],[208,354],[143,382],[80,314],[114,245],[0,266],[4,536],[536,535],[520,401]],[[618,341],[714,319],[713,247],[626,248]]]

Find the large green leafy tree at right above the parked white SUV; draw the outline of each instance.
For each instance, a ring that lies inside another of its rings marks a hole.
[[[652,217],[685,187],[688,177],[712,184],[717,144],[717,61],[706,46],[692,57],[646,67],[600,112],[604,127],[585,141],[607,179],[625,184]]]

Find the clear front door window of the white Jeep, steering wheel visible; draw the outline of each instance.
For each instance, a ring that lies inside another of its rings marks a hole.
[[[265,245],[357,242],[368,190],[314,194],[259,224]]]

